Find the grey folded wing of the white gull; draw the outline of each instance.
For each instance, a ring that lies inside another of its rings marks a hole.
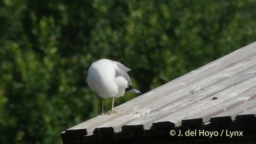
[[[131,81],[130,76],[127,74],[127,72],[130,71],[131,69],[127,68],[126,66],[124,66],[120,62],[114,61],[114,63],[116,63],[116,65],[118,66],[118,68],[116,68],[116,77],[118,77],[118,76],[124,77],[128,82],[128,86],[131,86],[132,81]]]

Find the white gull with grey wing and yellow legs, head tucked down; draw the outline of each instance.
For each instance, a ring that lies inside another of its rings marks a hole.
[[[104,99],[112,98],[112,109],[114,111],[114,100],[120,96],[124,96],[124,92],[141,92],[132,87],[130,71],[120,62],[114,60],[101,59],[93,62],[88,70],[87,84],[91,90],[96,92],[102,99],[102,114],[104,113]]]

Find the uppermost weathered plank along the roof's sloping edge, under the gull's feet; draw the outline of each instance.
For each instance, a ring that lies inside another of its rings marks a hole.
[[[126,114],[132,113],[134,112],[134,109],[138,110],[148,106],[156,100],[168,97],[172,93],[178,92],[179,90],[191,86],[196,82],[205,80],[214,74],[222,72],[223,70],[242,62],[243,60],[256,56],[255,47],[256,42],[240,48],[239,50],[215,60],[214,62],[206,64],[197,70],[185,74],[180,78],[168,82],[150,92],[147,92],[146,94],[138,96],[137,98],[116,107],[116,110],[118,111],[117,114],[97,116],[96,118],[92,118],[86,122],[69,128],[66,132],[70,131],[70,134],[72,134],[71,131],[73,130],[84,129],[86,130],[86,133],[90,134],[95,128],[101,126],[102,124],[111,122],[117,118],[125,116]],[[184,96],[186,95],[188,94],[184,94]]]

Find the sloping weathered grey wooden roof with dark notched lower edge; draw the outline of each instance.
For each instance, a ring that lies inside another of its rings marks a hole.
[[[256,134],[256,42],[115,110],[116,114],[96,116],[65,130],[61,134],[63,143],[128,142],[134,138],[143,143],[163,135],[170,140],[172,129],[177,132],[246,128],[246,134],[252,134],[251,130]]]

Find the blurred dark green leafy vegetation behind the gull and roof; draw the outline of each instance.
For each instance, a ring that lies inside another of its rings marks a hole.
[[[255,7],[255,0],[2,0],[0,143],[61,144],[60,132],[100,114],[86,84],[100,58],[132,68],[135,87],[147,92],[254,42]]]

